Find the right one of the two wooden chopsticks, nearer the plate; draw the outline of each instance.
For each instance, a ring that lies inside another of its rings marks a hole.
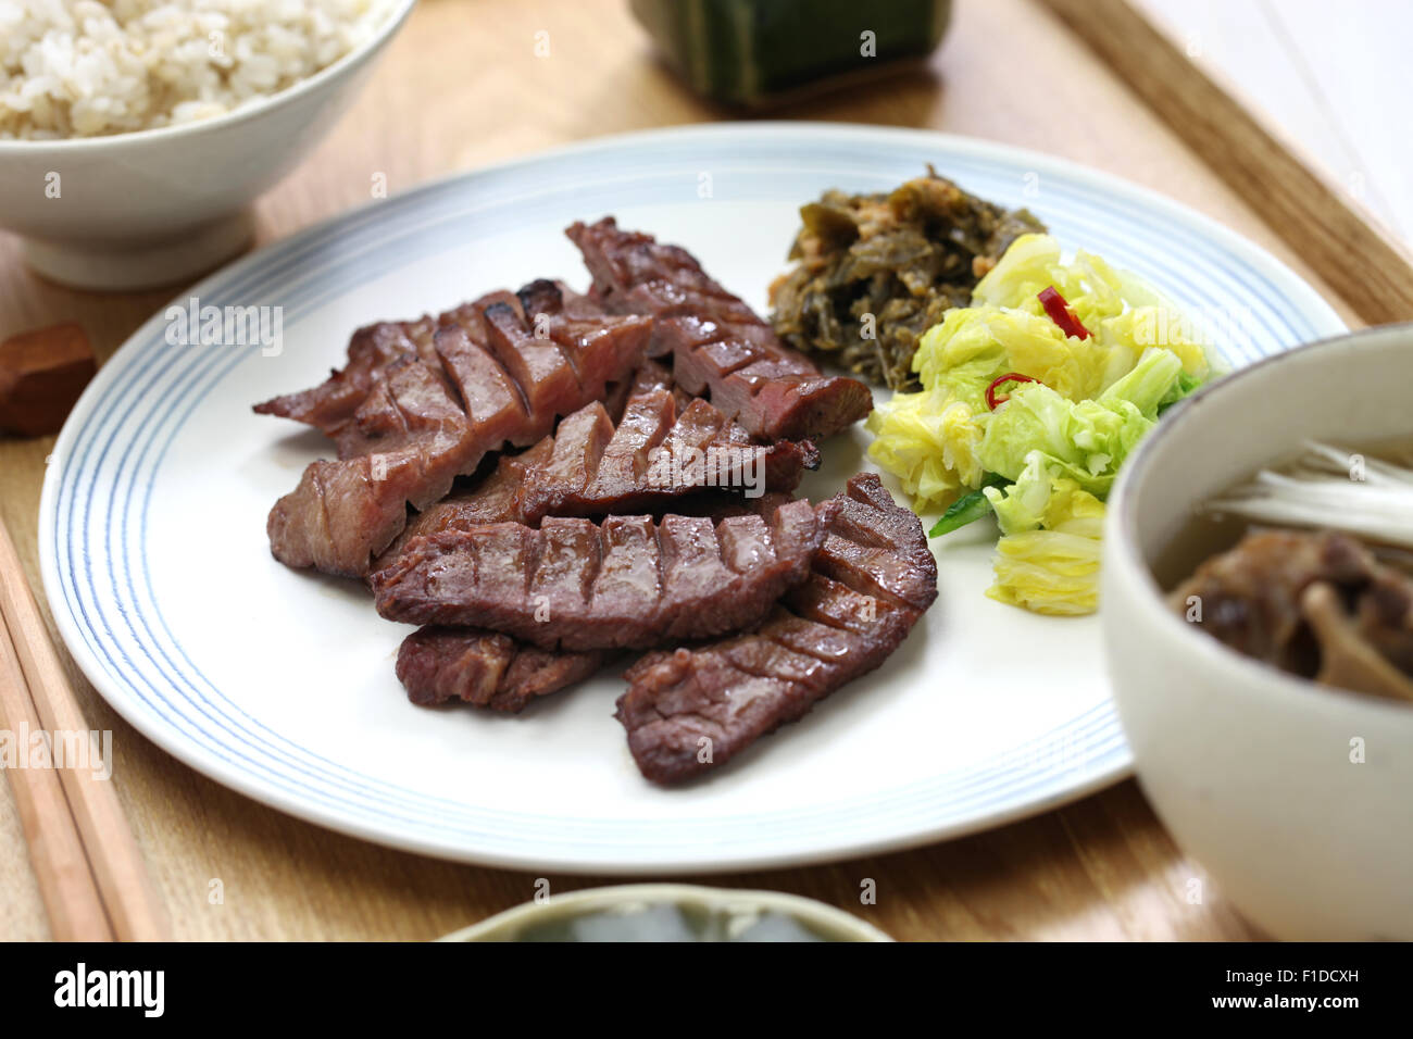
[[[69,684],[68,673],[49,640],[20,556],[10,532],[0,522],[0,615],[8,642],[18,657],[20,671],[38,724],[54,734],[85,734],[89,727]],[[8,681],[7,681],[8,686]],[[10,711],[6,711],[10,715]],[[13,721],[10,722],[14,724]],[[167,937],[167,915],[153,888],[141,850],[123,814],[113,783],[89,768],[62,768],[58,772],[72,824],[76,826],[92,868],[97,893],[107,910],[113,936],[119,941],[160,941]],[[106,762],[110,768],[112,762]],[[58,820],[54,820],[58,824]],[[41,827],[49,817],[38,821]],[[59,838],[54,840],[54,845]],[[45,852],[48,854],[48,847]],[[65,908],[61,916],[78,917],[81,906]],[[51,916],[51,920],[54,917]]]

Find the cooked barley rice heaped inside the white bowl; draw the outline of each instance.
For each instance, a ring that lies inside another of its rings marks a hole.
[[[0,0],[0,139],[211,119],[372,38],[394,0]]]

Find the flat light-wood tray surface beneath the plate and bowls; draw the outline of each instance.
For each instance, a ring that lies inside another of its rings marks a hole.
[[[540,31],[550,34],[543,58]],[[1030,0],[961,0],[926,69],[771,115],[933,127],[1109,170],[1260,242],[1348,314],[1201,157]],[[397,191],[562,141],[725,117],[653,61],[619,0],[421,0],[350,115],[260,199],[260,239],[366,202],[374,172]],[[1043,184],[1034,208],[1044,212]],[[0,336],[79,319],[106,358],[181,288],[103,295],[49,286],[0,236]],[[52,438],[0,440],[0,516],[37,588],[51,447]],[[430,939],[534,895],[536,875],[363,844],[232,793],[147,742],[76,670],[75,679],[90,725],[113,731],[113,782],[177,937]],[[0,787],[0,939],[42,939],[14,803]],[[1200,899],[1193,878],[1204,879]],[[218,905],[208,899],[212,879],[225,891]],[[613,879],[548,876],[551,891]],[[865,879],[876,881],[876,905],[859,903]],[[1176,848],[1132,780],[965,840],[708,882],[818,898],[899,939],[1258,936]]]

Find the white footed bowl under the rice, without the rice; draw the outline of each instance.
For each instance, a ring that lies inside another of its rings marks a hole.
[[[0,228],[40,274],[81,288],[171,284],[250,242],[250,202],[328,133],[415,0],[287,90],[179,126],[0,141]]]

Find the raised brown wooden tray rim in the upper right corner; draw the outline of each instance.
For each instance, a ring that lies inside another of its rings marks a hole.
[[[1413,253],[1128,0],[1044,0],[1368,324],[1413,319]]]

